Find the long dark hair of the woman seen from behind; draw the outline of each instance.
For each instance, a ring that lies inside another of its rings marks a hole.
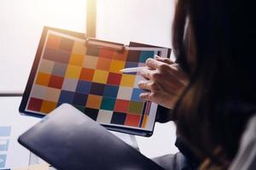
[[[256,113],[252,7],[241,1],[177,1],[172,46],[190,82],[174,112],[178,132],[201,161],[231,161]],[[224,160],[213,154],[219,147]]]

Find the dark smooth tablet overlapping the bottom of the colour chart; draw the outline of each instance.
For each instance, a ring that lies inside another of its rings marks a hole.
[[[68,104],[45,116],[18,141],[56,169],[163,170]]]

